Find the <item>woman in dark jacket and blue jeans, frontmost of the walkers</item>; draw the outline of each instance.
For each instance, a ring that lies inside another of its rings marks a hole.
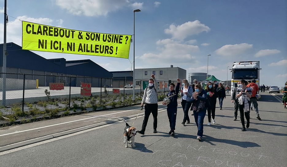
[[[190,101],[192,103],[191,108],[194,113],[194,120],[197,126],[197,138],[199,141],[203,136],[203,120],[206,114],[205,102],[207,99],[206,91],[202,89],[201,85],[197,83],[194,86],[195,92],[192,94]]]

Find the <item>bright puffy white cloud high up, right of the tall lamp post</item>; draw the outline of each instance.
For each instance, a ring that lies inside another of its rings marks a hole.
[[[164,30],[166,34],[171,34],[173,39],[185,39],[190,35],[197,35],[204,31],[209,32],[210,28],[199,20],[188,21],[177,26],[171,24],[169,28]]]

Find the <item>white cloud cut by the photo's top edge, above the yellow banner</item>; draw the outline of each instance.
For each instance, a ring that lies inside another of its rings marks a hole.
[[[134,3],[135,4],[135,3]],[[140,3],[139,3],[140,4]],[[106,16],[129,5],[128,0],[56,0],[56,5],[74,15]],[[136,4],[135,4],[136,5]]]

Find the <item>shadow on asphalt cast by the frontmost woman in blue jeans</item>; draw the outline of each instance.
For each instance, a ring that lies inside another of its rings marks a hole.
[[[243,147],[243,148],[261,147],[257,143],[253,143],[253,142],[240,142],[240,141],[229,140],[229,139],[216,139],[216,138],[208,136],[208,135],[204,135],[204,136],[205,136],[205,138],[203,138],[203,140],[201,140],[201,142],[207,142],[207,143],[211,144],[212,146],[216,145],[212,142],[218,142],[218,143],[226,143],[226,144],[236,145],[236,146]]]

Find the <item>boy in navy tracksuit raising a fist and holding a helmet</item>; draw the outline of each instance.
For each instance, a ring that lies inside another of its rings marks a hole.
[[[169,84],[170,91],[167,93],[166,97],[170,99],[170,103],[167,104],[167,117],[170,123],[170,132],[169,134],[174,136],[174,130],[175,130],[175,122],[176,122],[176,114],[177,114],[177,98],[178,98],[178,92],[180,87],[180,79],[177,79],[178,83],[175,87],[174,83]],[[175,87],[175,90],[174,90]],[[163,102],[163,105],[166,105],[165,102]]]

